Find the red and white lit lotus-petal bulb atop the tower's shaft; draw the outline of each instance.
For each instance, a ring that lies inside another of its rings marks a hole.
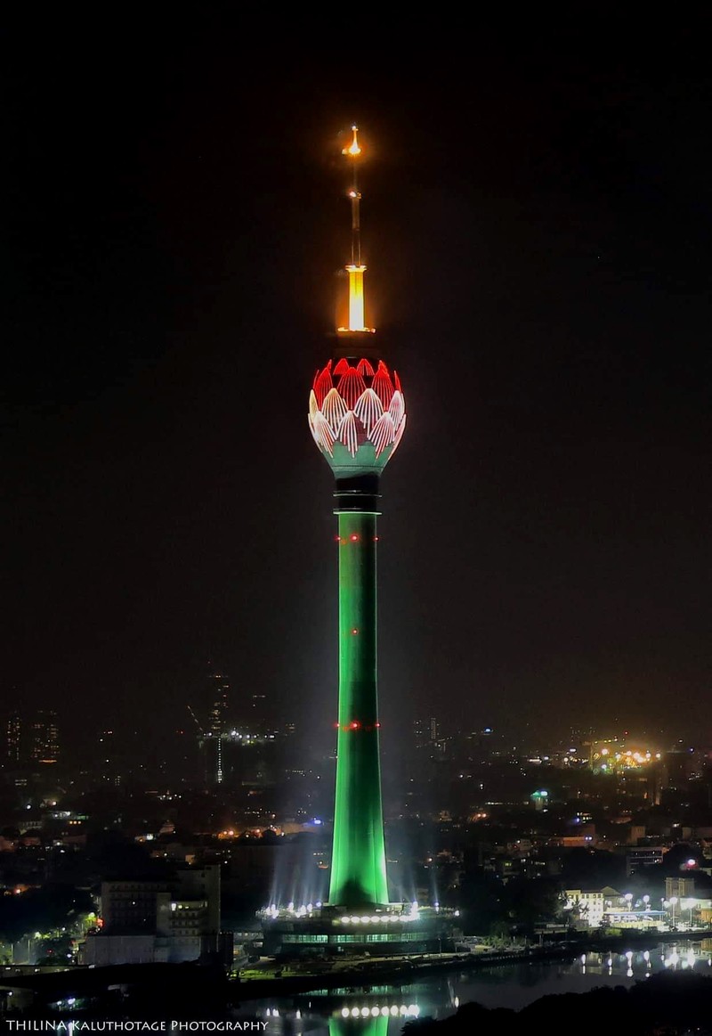
[[[309,393],[314,440],[336,473],[380,472],[393,456],[406,428],[400,380],[382,359],[352,366],[332,361],[317,371]]]

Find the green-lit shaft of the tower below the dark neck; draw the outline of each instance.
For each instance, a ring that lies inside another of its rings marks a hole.
[[[338,515],[338,739],[329,902],[387,903],[377,688],[377,512]]]

